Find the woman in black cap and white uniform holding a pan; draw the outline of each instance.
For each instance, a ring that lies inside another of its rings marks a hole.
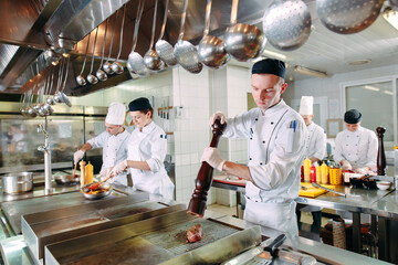
[[[129,168],[135,189],[174,199],[174,183],[164,165],[167,135],[154,123],[148,98],[139,97],[130,102],[128,108],[137,128],[127,145],[127,160],[116,165],[112,172],[121,173]]]

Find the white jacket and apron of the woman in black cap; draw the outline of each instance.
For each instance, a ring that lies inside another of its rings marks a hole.
[[[172,199],[174,183],[167,176],[165,158],[167,153],[167,135],[154,121],[133,130],[127,147],[127,159],[146,161],[150,170],[130,168],[133,187],[149,193]]]

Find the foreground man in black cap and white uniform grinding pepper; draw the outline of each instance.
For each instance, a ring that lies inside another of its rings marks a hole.
[[[207,147],[202,161],[248,180],[244,220],[283,232],[298,234],[294,199],[298,197],[301,165],[306,128],[303,118],[281,98],[287,84],[285,64],[265,59],[252,67],[252,96],[258,108],[234,118],[216,113],[227,123],[223,137],[249,139],[249,165],[221,158],[217,148]]]

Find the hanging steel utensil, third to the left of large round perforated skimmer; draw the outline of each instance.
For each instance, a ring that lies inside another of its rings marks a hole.
[[[181,25],[177,43],[174,49],[177,62],[188,72],[198,74],[201,72],[203,64],[199,62],[198,51],[190,42],[184,41],[184,29],[187,17],[188,0],[184,0]]]

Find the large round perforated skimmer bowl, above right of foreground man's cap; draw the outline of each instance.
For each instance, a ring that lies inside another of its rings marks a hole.
[[[263,32],[281,51],[301,47],[310,38],[311,13],[302,0],[274,0],[265,10]]]

